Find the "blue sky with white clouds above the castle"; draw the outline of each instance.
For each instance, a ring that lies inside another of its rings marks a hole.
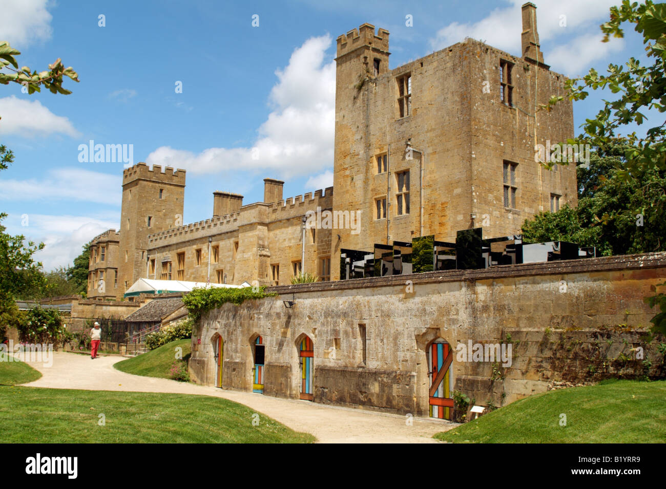
[[[185,168],[184,222],[210,218],[215,190],[262,200],[266,177],[286,181],[285,197],[330,186],[338,35],[365,22],[388,29],[391,69],[466,36],[519,55],[522,3],[0,0],[0,40],[21,51],[19,66],[41,71],[61,57],[81,80],[65,81],[68,96],[0,86],[0,142],[15,153],[0,173],[4,224],[45,242],[45,269],[117,229],[123,162],[79,162],[89,140],[132,144],[135,163]],[[535,1],[553,71],[642,57],[631,30],[600,42],[613,3]],[[575,125],[600,106],[597,93],[577,102]]]

